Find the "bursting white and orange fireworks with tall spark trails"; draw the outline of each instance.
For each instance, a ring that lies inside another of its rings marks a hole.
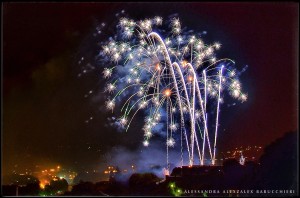
[[[141,21],[120,19],[119,39],[110,39],[101,51],[111,65],[103,70],[104,78],[110,79],[105,87],[110,94],[106,107],[113,111],[116,102],[123,101],[118,98],[125,97],[119,123],[126,130],[144,109],[148,114],[143,127],[146,147],[153,128],[165,116],[167,156],[169,147],[176,144],[174,133],[180,131],[181,151],[186,148],[189,165],[195,164],[196,153],[201,165],[205,155],[214,165],[220,104],[224,102],[221,93],[227,90],[242,102],[247,95],[241,91],[236,70],[231,69],[234,61],[215,57],[220,43],[206,45],[201,36],[185,33],[178,18],[167,25],[169,33],[161,30],[163,19],[158,16]],[[126,70],[122,76],[120,68]],[[212,107],[215,127],[209,131],[207,112]],[[183,155],[181,158],[183,163]]]

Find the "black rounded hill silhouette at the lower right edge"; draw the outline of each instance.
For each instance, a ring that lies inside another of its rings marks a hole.
[[[291,131],[266,146],[260,158],[257,184],[261,189],[296,189],[297,132]]]

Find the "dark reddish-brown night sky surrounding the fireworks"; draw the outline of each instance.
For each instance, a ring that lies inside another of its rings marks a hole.
[[[142,135],[105,128],[107,113],[83,96],[93,80],[78,79],[95,21],[178,13],[190,29],[206,30],[248,69],[240,77],[248,101],[224,109],[220,148],[267,145],[297,130],[298,4],[4,3],[3,165],[99,162],[115,145],[135,149]],[[91,74],[90,78],[95,78]],[[102,84],[98,84],[102,86]],[[99,104],[98,104],[99,105]],[[85,120],[93,115],[92,124]],[[136,132],[137,133],[137,132]],[[90,149],[88,149],[91,147]]]

